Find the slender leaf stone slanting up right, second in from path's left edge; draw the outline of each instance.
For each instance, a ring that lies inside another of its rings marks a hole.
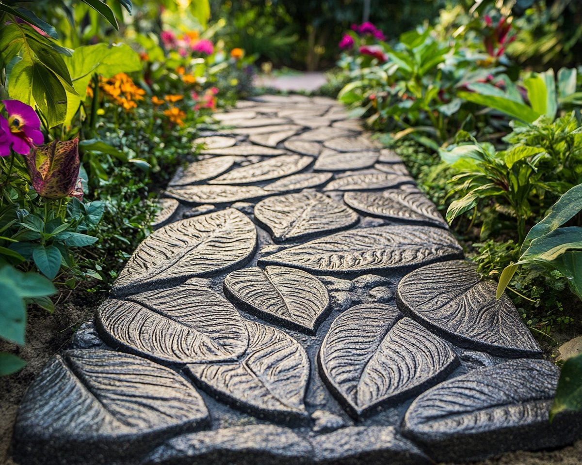
[[[281,155],[236,168],[209,181],[209,184],[250,184],[268,181],[297,173],[309,166],[311,162],[313,158],[309,156]]]

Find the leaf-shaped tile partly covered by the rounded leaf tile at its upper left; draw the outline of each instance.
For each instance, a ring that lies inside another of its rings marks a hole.
[[[249,349],[239,362],[190,364],[186,372],[201,388],[240,409],[282,419],[307,417],[305,349],[276,328],[247,321],[247,329]]]

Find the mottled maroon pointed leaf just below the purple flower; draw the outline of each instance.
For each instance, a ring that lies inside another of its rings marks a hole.
[[[79,138],[42,145],[25,159],[38,195],[48,199],[79,196]]]

